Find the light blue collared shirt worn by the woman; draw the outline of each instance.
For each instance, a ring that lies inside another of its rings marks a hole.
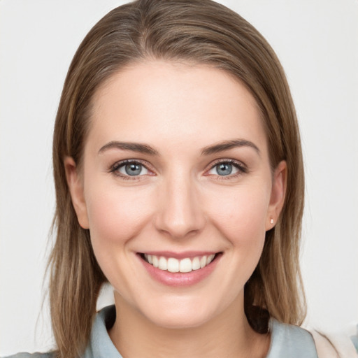
[[[108,336],[106,321],[115,315],[115,306],[97,313],[92,327],[90,343],[81,358],[122,358]],[[291,324],[271,319],[271,345],[266,358],[317,358],[312,335]],[[51,353],[19,353],[8,358],[52,358]]]

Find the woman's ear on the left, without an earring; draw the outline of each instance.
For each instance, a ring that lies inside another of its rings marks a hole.
[[[73,208],[75,208],[78,222],[83,229],[89,229],[90,225],[87,216],[87,206],[83,192],[83,180],[78,173],[76,163],[72,157],[64,159],[64,168],[66,171],[67,185],[71,194]]]

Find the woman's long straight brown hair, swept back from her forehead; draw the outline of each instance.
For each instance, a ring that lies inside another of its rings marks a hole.
[[[85,349],[106,278],[96,262],[90,232],[78,224],[66,183],[64,157],[78,166],[96,90],[113,73],[145,59],[208,64],[250,90],[262,112],[271,166],[287,162],[287,195],[262,257],[245,285],[245,313],[267,330],[268,316],[301,324],[306,312],[299,246],[303,163],[296,114],[280,63],[259,32],[241,16],[210,0],[138,0],[115,8],[80,44],[64,83],[55,123],[53,166],[57,239],[50,257],[50,309],[59,357]]]

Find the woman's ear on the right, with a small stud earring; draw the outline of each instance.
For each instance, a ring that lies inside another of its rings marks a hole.
[[[271,230],[280,216],[287,187],[287,164],[284,160],[278,164],[273,173],[270,203],[266,217],[266,231]]]

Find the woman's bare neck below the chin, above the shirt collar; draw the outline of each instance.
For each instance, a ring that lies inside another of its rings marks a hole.
[[[126,358],[266,357],[270,338],[252,330],[243,300],[238,301],[199,327],[167,329],[146,319],[116,294],[117,319],[109,335]]]

